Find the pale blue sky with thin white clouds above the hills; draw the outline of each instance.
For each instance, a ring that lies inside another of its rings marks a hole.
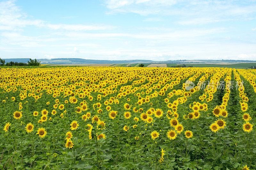
[[[256,60],[255,9],[255,0],[0,0],[0,57]]]

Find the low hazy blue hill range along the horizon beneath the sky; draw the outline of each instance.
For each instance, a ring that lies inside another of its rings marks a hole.
[[[27,63],[29,58],[2,58],[5,62],[22,62]],[[256,63],[252,60],[92,60],[82,58],[52,58],[37,59],[41,64],[130,64],[130,63],[150,63],[150,64],[239,64],[239,63]]]

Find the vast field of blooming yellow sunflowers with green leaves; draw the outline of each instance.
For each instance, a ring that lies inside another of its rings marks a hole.
[[[0,169],[256,169],[256,72],[0,68]]]

